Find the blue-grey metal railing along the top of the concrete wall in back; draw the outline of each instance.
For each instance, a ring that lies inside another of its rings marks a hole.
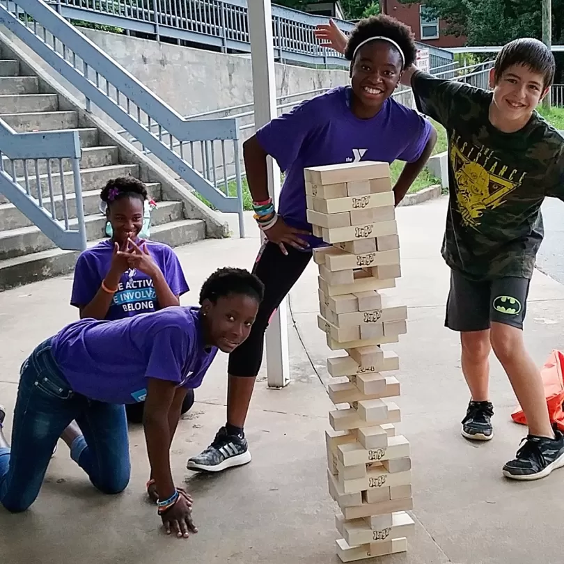
[[[246,0],[48,0],[64,17],[143,33],[157,40],[198,43],[221,52],[251,52]],[[279,61],[308,65],[348,66],[343,55],[321,47],[313,31],[328,18],[272,6],[274,56]],[[348,33],[351,22],[335,19]],[[431,68],[453,61],[453,54],[432,45]]]

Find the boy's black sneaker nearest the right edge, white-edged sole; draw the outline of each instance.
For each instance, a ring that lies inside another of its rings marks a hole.
[[[503,467],[503,476],[513,480],[538,480],[564,466],[564,435],[554,429],[556,438],[527,435],[515,460]],[[522,441],[522,442],[523,442]]]

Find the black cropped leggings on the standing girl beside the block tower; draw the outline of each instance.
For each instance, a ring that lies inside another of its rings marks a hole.
[[[233,376],[256,377],[263,362],[264,335],[272,313],[290,292],[311,260],[311,251],[298,251],[287,245],[285,256],[277,244],[261,247],[253,274],[263,281],[265,297],[246,341],[229,355],[228,372]]]

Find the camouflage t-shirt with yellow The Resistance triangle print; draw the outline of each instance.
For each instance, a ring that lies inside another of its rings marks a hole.
[[[416,72],[421,113],[448,135],[450,199],[442,255],[469,279],[531,278],[545,196],[564,199],[564,138],[533,113],[515,133],[489,122],[492,92]]]

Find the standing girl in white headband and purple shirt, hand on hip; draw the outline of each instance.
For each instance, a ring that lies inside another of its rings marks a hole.
[[[189,469],[217,472],[251,461],[243,425],[263,360],[265,329],[304,272],[312,249],[324,245],[311,235],[306,218],[304,168],[405,161],[393,187],[397,204],[437,141],[427,120],[391,97],[402,72],[416,58],[409,27],[383,15],[362,19],[350,35],[345,56],[350,61],[351,86],[302,102],[244,143],[246,178],[259,227],[266,235],[253,271],[265,284],[265,299],[249,339],[229,356],[227,423],[203,453],[188,461]],[[285,172],[278,210],[268,194],[268,155]]]

